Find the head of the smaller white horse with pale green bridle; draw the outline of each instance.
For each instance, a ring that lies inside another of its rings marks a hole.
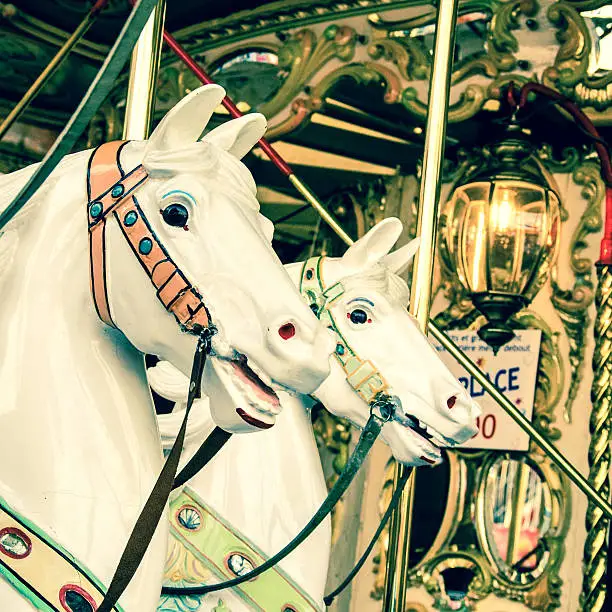
[[[390,253],[402,224],[386,219],[341,258],[312,258],[301,268],[302,295],[336,333],[332,374],[315,392],[334,414],[363,427],[369,404],[390,398],[382,437],[395,458],[436,464],[440,446],[467,441],[480,409],[408,313],[403,272],[418,239]]]

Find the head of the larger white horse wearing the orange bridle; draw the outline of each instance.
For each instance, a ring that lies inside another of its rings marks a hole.
[[[270,385],[312,392],[329,373],[334,341],[274,253],[273,228],[240,161],[263,136],[265,118],[249,114],[201,138],[224,95],[217,85],[196,89],[146,142],[119,147],[116,162],[107,155],[99,170],[90,168],[95,176],[118,163],[128,173],[123,195],[123,186],[117,189],[123,199],[129,172],[142,165],[146,173],[134,198],[108,216],[105,294],[112,323],[132,344],[186,375],[195,336],[185,332],[196,320],[200,329],[214,324],[210,375],[232,378],[234,395],[273,422],[278,399]],[[90,227],[96,204],[92,192]]]

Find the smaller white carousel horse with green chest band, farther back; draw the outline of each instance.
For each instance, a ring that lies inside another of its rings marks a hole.
[[[349,355],[368,360],[401,407],[397,420],[383,426],[384,440],[396,459],[422,466],[441,460],[440,446],[472,437],[480,410],[407,313],[408,288],[396,273],[406,268],[416,243],[389,255],[400,232],[401,223],[388,219],[343,257],[314,258],[288,269],[338,334],[339,359],[315,395],[337,416],[362,427],[369,415],[366,391],[351,386],[347,376],[363,376],[365,370],[352,370]],[[158,416],[168,446],[181,420],[187,381],[163,362],[149,370],[149,380],[158,393],[178,402],[173,413]],[[211,395],[194,406],[186,458],[197,448],[194,442],[212,430],[214,402]],[[327,490],[306,400],[283,395],[281,403],[272,429],[234,436],[173,500],[167,585],[218,582],[248,571],[283,548],[321,505]],[[329,552],[328,520],[278,569],[232,591],[162,596],[158,611],[320,610]]]

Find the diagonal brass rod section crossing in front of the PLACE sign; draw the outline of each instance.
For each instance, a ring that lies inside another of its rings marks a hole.
[[[612,505],[595,491],[586,478],[530,423],[523,413],[487,378],[486,374],[431,321],[429,322],[429,333],[474,377],[483,389],[510,415],[512,420],[527,433],[589,500],[608,518],[612,518]]]

